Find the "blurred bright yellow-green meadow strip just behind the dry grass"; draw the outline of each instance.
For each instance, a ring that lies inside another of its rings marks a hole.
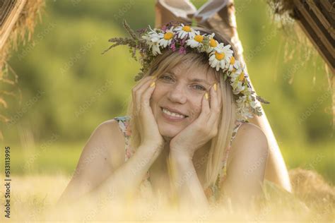
[[[28,147],[11,145],[11,174],[67,174],[74,173],[86,142],[51,143],[48,146]],[[288,169],[314,169],[334,185],[334,145],[281,145]],[[2,152],[2,151],[1,151]],[[1,155],[1,154],[0,154]],[[1,157],[4,155],[2,154]],[[1,169],[4,171],[4,169]],[[1,172],[2,173],[2,172]]]

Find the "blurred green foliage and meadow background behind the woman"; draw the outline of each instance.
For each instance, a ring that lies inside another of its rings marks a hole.
[[[192,1],[197,8],[204,2]],[[154,0],[46,3],[32,41],[8,61],[18,96],[3,111],[12,121],[1,125],[13,175],[74,173],[94,129],[125,114],[140,68],[127,47],[101,53],[110,37],[127,35],[123,19],[134,30],[155,21]],[[249,75],[271,102],[264,109],[288,169],[315,169],[334,184],[331,91],[321,56],[278,29],[265,0],[235,0],[235,8]]]

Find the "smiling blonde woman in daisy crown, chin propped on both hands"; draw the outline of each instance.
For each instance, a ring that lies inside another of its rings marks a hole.
[[[241,204],[259,195],[268,143],[247,122],[247,109],[260,114],[225,38],[170,23],[144,32],[136,44],[113,40],[140,49],[143,76],[128,115],[101,123],[90,136],[61,200],[123,198],[145,182],[183,207]]]

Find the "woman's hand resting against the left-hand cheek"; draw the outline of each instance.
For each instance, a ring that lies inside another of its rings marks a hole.
[[[132,88],[134,118],[139,126],[141,145],[154,147],[158,154],[163,150],[164,139],[158,130],[158,124],[153,116],[150,107],[150,99],[155,90],[156,77],[147,76],[139,80],[139,83]],[[153,151],[156,153],[156,151]]]

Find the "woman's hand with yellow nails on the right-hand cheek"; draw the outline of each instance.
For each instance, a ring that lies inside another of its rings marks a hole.
[[[217,85],[215,87],[213,85],[209,90],[211,107],[206,93],[202,99],[199,117],[172,138],[170,152],[176,153],[178,156],[186,155],[192,159],[196,150],[216,136],[222,107],[221,89]]]

